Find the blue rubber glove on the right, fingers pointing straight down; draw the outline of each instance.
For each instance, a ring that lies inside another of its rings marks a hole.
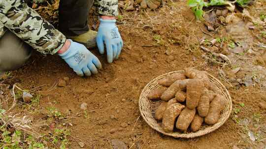
[[[100,54],[104,53],[103,43],[105,44],[108,63],[112,63],[114,59],[118,59],[123,47],[123,40],[115,22],[116,20],[100,19],[100,26],[96,36]]]

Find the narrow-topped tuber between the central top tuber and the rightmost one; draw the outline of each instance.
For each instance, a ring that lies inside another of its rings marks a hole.
[[[201,117],[207,116],[209,112],[210,99],[209,99],[208,94],[209,94],[209,91],[208,89],[205,88],[199,99],[199,105],[197,106],[197,110],[198,110],[199,116]]]

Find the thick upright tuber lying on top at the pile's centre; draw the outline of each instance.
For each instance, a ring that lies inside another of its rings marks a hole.
[[[194,109],[198,106],[203,89],[204,84],[200,79],[194,78],[187,82],[186,105],[188,108]]]

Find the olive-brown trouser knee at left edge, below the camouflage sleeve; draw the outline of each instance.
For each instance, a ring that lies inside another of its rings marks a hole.
[[[0,38],[0,75],[20,68],[31,57],[31,47],[11,31]]]

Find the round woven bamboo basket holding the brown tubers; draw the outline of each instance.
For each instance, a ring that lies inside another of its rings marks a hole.
[[[143,117],[143,119],[146,121],[147,124],[149,124],[153,129],[167,136],[172,136],[175,138],[195,138],[218,129],[228,120],[232,112],[232,99],[230,97],[230,94],[226,89],[226,87],[217,78],[208,74],[210,81],[214,82],[222,91],[222,94],[226,97],[226,108],[222,111],[219,121],[214,125],[203,125],[197,132],[188,132],[188,133],[181,133],[178,131],[170,133],[165,132],[162,128],[162,123],[156,121],[154,118],[155,110],[161,104],[162,101],[150,100],[147,98],[147,96],[152,90],[160,87],[160,85],[158,84],[159,80],[166,78],[174,73],[183,73],[183,71],[174,71],[164,75],[160,75],[155,79],[153,79],[152,81],[150,81],[142,90],[141,95],[139,97],[139,110],[141,116]]]

